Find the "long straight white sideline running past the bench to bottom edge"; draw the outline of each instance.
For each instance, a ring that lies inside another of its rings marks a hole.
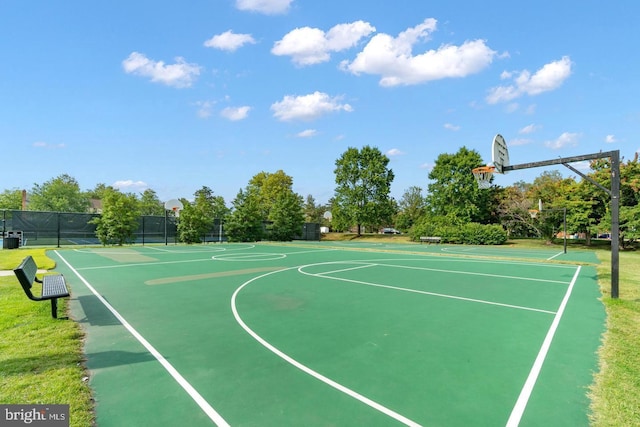
[[[216,410],[213,409],[211,405],[209,405],[204,397],[202,397],[200,393],[198,393],[198,391],[193,388],[191,384],[189,384],[189,382],[178,372],[178,370],[174,368],[173,365],[171,365],[171,363],[169,363],[167,359],[165,359],[164,356],[162,356],[162,354],[160,354],[160,352],[156,350],[155,347],[151,345],[151,343],[149,343],[149,341],[147,341],[138,331],[136,331],[134,327],[131,326],[129,322],[127,322],[125,318],[122,317],[122,315],[120,315],[120,313],[118,313],[118,311],[116,311],[116,309],[113,308],[113,306],[109,304],[107,300],[105,300],[102,295],[100,295],[94,289],[94,287],[91,286],[89,282],[84,277],[82,277],[80,273],[78,273],[78,271],[73,268],[62,255],[60,255],[60,253],[58,253],[58,251],[54,252],[60,257],[62,261],[64,261],[67,267],[69,267],[71,271],[73,271],[75,275],[78,276],[82,283],[85,284],[85,286],[100,300],[100,302],[102,302],[102,304],[104,304],[104,306],[120,321],[122,326],[124,326],[129,331],[129,333],[131,333],[131,335],[133,335],[138,340],[138,342],[140,342],[140,344],[142,344],[144,348],[146,348],[147,351],[149,351],[149,353],[151,353],[153,357],[156,358],[158,362],[160,362],[162,367],[164,367],[169,375],[171,375],[173,379],[176,380],[176,382],[187,392],[187,394],[196,402],[200,409],[202,409],[204,413],[207,414],[211,421],[216,423],[216,425],[218,426],[229,426],[229,423],[227,423],[224,418],[222,418],[222,416],[218,414],[218,412],[216,412]]]

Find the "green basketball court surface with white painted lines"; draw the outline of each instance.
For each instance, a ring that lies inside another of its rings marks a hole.
[[[605,320],[595,256],[525,252],[315,242],[51,256],[87,332],[100,426],[588,425]]]

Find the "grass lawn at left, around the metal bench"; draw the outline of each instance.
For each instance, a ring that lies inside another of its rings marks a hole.
[[[54,267],[45,249],[16,249],[0,251],[0,269],[27,255],[38,268]],[[66,307],[58,301],[59,313]],[[0,313],[0,403],[69,404],[71,426],[93,425],[80,326],[53,319],[50,302],[29,300],[14,275],[0,276]]]

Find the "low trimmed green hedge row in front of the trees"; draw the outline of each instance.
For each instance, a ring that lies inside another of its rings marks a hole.
[[[466,245],[502,245],[507,241],[507,232],[498,224],[443,225],[423,221],[411,229],[411,239],[418,241],[421,236],[437,236],[442,243]]]

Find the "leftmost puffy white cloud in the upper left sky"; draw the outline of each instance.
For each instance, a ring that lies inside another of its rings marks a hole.
[[[190,87],[200,75],[200,67],[185,62],[181,57],[175,60],[175,64],[166,65],[163,61],[154,61],[142,53],[132,52],[122,61],[122,67],[127,74],[149,77],[155,83],[177,88]]]

